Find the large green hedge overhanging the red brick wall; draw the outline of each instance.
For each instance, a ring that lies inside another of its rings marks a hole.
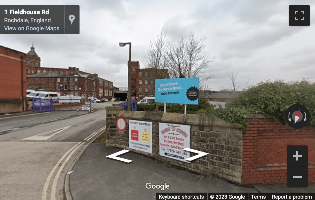
[[[307,81],[259,83],[227,103],[226,109],[217,109],[207,114],[240,123],[245,129],[247,123],[243,116],[246,114],[263,114],[285,124],[285,111],[293,104],[306,106],[310,111],[309,125],[315,125],[315,84]]]

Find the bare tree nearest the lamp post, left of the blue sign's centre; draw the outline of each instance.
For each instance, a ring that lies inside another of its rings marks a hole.
[[[167,55],[166,45],[168,40],[166,38],[166,32],[163,29],[156,39],[150,41],[148,55],[146,57],[146,80],[150,84],[151,88],[155,89],[155,79],[168,78],[167,66],[169,65],[169,58]],[[154,94],[154,93],[152,93]],[[157,106],[156,106],[157,110]]]

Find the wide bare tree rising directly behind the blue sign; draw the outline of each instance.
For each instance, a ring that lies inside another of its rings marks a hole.
[[[205,85],[211,75],[205,76],[205,71],[213,62],[213,57],[205,49],[205,40],[205,37],[196,37],[191,33],[188,41],[181,38],[178,43],[168,45],[170,77],[200,77],[200,87],[207,87]]]

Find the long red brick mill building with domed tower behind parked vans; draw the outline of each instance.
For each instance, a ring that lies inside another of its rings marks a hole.
[[[27,53],[26,64],[29,88],[60,92],[61,96],[64,94],[81,96],[83,94],[86,98],[112,99],[113,83],[98,77],[98,74],[80,71],[77,67],[68,67],[68,69],[41,67],[40,61],[40,57],[32,46],[31,50]],[[58,78],[60,82],[58,82]],[[64,78],[66,78],[66,82],[64,82]],[[77,80],[77,82],[71,82],[74,80]],[[60,89],[58,89],[58,85]],[[73,89],[71,89],[72,87]]]

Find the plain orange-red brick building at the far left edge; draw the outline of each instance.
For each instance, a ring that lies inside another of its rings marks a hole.
[[[26,111],[26,54],[0,46],[0,113]]]

